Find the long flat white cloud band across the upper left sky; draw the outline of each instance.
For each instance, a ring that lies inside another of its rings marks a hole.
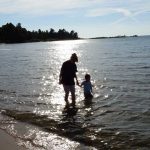
[[[57,14],[90,4],[88,0],[0,0],[0,13]]]

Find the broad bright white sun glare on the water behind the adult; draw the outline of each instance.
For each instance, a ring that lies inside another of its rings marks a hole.
[[[79,52],[78,49],[83,43],[86,43],[86,41],[56,41],[49,43],[48,52],[46,51],[43,54],[43,64],[47,67],[47,71],[43,70],[42,72],[41,92],[38,97],[38,103],[43,104],[43,107],[37,106],[34,113],[47,115],[55,119],[61,115],[65,101],[63,86],[59,84],[60,69],[62,63],[69,60],[72,53],[77,53],[80,63],[81,51]],[[79,63],[77,63],[77,67]],[[87,69],[80,68],[82,71],[79,70],[79,72],[87,72]],[[81,95],[79,94],[80,91],[80,88],[76,87],[76,95]],[[77,96],[77,101],[81,99],[83,99],[83,96]],[[71,95],[69,95],[69,101],[71,102]]]

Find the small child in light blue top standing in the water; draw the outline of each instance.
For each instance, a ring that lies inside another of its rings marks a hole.
[[[81,87],[84,89],[84,97],[85,99],[92,99],[92,84],[91,84],[91,76],[89,74],[85,75],[85,81],[81,83]]]

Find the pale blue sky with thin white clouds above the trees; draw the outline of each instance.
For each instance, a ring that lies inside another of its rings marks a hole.
[[[7,22],[84,38],[150,35],[150,0],[0,0],[0,26]]]

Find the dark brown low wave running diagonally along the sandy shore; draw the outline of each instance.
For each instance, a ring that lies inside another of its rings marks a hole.
[[[103,114],[113,112],[107,110]],[[74,116],[69,116],[68,118],[64,118],[64,120],[58,121],[50,119],[47,115],[37,115],[29,111],[5,110],[2,113],[16,120],[39,126],[47,132],[67,137],[87,146],[94,146],[97,149],[137,148],[137,145],[133,144],[137,141],[136,138],[133,138],[135,135],[138,136],[137,132],[121,132],[118,128],[107,128],[104,125],[89,126],[88,122],[75,121]],[[148,139],[142,139],[142,137],[139,137],[136,143],[138,144],[138,148],[143,147],[143,144],[139,145],[140,143],[145,143],[145,147],[149,146]]]

